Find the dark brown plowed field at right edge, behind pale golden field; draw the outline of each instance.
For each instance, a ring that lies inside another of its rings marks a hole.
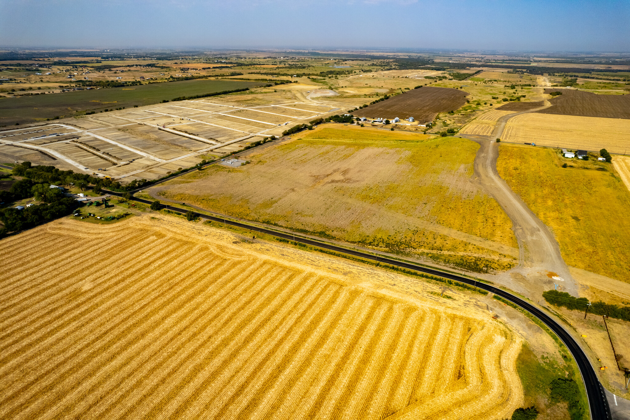
[[[545,93],[562,92],[549,100],[551,107],[537,111],[539,114],[578,115],[630,119],[630,95],[597,95],[572,89],[545,89]]]

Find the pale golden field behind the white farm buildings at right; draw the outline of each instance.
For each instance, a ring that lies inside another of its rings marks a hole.
[[[624,153],[630,150],[630,120],[576,117],[574,115],[523,114],[510,119],[503,140],[541,146]]]

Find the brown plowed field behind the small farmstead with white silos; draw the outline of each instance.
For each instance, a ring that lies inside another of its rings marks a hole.
[[[423,124],[423,122],[433,121],[439,112],[449,112],[460,108],[466,103],[466,95],[468,95],[467,92],[457,89],[424,86],[369,105],[353,114],[359,117],[387,119],[413,117]]]

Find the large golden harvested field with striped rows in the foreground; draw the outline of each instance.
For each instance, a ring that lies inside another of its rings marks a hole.
[[[154,214],[0,242],[0,417],[485,420],[522,404],[522,339],[472,292]]]

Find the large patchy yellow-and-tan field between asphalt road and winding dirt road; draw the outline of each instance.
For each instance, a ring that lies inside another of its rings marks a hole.
[[[148,189],[154,199],[467,271],[516,264],[511,221],[473,183],[478,144],[321,124]]]

